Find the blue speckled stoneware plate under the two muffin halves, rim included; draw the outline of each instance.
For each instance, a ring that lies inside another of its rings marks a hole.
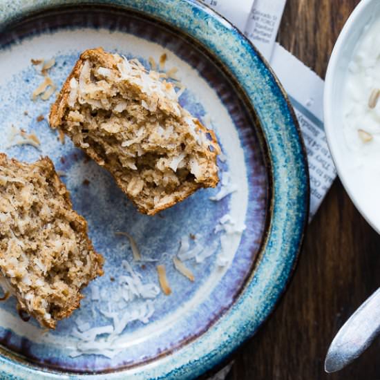
[[[44,77],[30,59],[54,58],[48,76],[60,88],[79,53],[97,46],[147,68],[149,57],[167,54],[161,70],[178,68],[186,87],[180,103],[211,122],[222,146],[217,189],[144,216],[111,175],[68,139],[61,144],[46,122],[54,96],[31,99]],[[1,379],[191,379],[222,363],[273,310],[307,222],[305,151],[267,64],[195,1],[6,0],[0,72],[0,151],[53,160],[106,258],[104,276],[55,331],[21,321],[13,299],[1,303]],[[41,144],[17,144],[25,142],[12,137],[19,129]],[[129,238],[117,231],[133,236],[144,261],[133,260]],[[190,256],[193,282],[173,266],[179,249]],[[169,296],[158,286],[158,264],[167,269]]]

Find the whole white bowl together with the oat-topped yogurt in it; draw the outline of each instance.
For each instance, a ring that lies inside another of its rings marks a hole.
[[[332,52],[325,130],[339,178],[380,233],[380,2],[363,0]]]

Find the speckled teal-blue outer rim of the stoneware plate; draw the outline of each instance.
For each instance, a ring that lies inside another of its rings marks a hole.
[[[269,210],[270,225],[255,269],[239,298],[203,336],[178,352],[131,370],[107,374],[108,379],[125,379],[126,376],[133,379],[198,377],[227,359],[256,333],[274,310],[294,271],[307,227],[310,203],[307,155],[294,110],[272,69],[251,42],[224,17],[195,0],[4,0],[0,6],[0,10],[3,8],[0,28],[27,17],[31,12],[68,3],[122,6],[153,15],[184,30],[218,55],[229,73],[240,82],[260,120],[271,164],[269,175],[272,175],[273,196]],[[173,6],[177,7],[176,12],[172,12]],[[191,16],[198,17],[196,25]],[[258,74],[256,79],[253,71]],[[261,92],[265,96],[262,97]],[[104,374],[46,372],[7,357],[0,357],[0,374],[4,379],[104,378]]]

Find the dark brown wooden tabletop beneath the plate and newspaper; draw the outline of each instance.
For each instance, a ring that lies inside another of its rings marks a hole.
[[[287,0],[278,40],[324,77],[334,42],[357,3]],[[336,180],[307,231],[287,293],[260,332],[237,352],[228,379],[380,379],[379,341],[345,370],[323,370],[334,334],[380,287],[379,269],[380,236]]]

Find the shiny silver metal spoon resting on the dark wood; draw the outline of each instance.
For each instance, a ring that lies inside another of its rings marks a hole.
[[[380,289],[377,289],[336,334],[327,352],[325,371],[336,372],[357,359],[380,334]]]

